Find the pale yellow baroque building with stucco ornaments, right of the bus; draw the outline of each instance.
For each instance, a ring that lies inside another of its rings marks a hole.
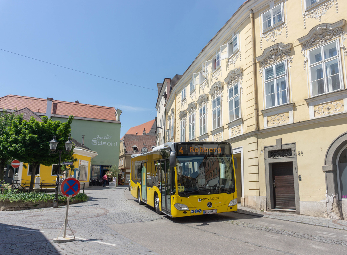
[[[347,1],[246,1],[172,87],[166,142],[230,142],[241,205],[346,219],[346,19]]]

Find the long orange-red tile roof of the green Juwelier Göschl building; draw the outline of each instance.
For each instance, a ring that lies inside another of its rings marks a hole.
[[[116,109],[114,107],[73,103],[59,100],[53,100],[53,103],[57,103],[57,112],[55,114],[58,115],[69,116],[72,114],[75,117],[82,118],[116,120]],[[0,108],[12,110],[15,108],[22,109],[25,107],[36,113],[45,113],[47,107],[47,99],[17,95],[7,95],[0,97]]]

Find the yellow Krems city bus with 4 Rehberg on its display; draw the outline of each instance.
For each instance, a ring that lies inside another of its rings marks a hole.
[[[172,218],[237,210],[230,143],[166,143],[131,157],[130,191]]]

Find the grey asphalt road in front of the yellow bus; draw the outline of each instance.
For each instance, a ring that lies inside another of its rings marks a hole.
[[[156,215],[150,206],[138,205],[125,190],[131,205]],[[221,213],[137,222],[111,229],[161,255],[177,254],[347,254],[347,231]]]

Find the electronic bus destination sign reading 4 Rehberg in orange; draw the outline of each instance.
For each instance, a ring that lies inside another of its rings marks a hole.
[[[178,143],[177,155],[230,155],[229,143]]]

